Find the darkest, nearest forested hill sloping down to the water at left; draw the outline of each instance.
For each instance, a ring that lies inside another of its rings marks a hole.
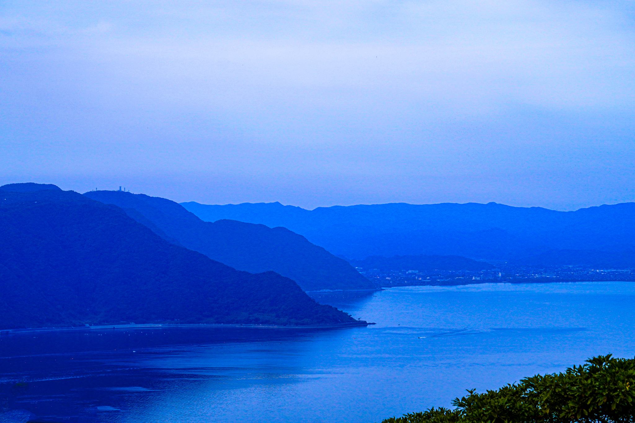
[[[289,278],[234,270],[75,192],[3,192],[0,239],[3,328],[352,321]]]

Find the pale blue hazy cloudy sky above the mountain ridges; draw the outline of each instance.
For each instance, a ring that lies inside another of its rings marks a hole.
[[[2,1],[0,185],[635,201],[632,1]]]

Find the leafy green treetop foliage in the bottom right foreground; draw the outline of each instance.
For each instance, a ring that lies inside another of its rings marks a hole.
[[[598,356],[565,372],[452,401],[456,407],[391,417],[382,423],[635,422],[635,359]]]

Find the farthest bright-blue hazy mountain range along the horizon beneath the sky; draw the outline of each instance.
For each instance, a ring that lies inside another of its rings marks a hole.
[[[488,204],[374,204],[305,210],[279,203],[182,205],[205,221],[284,226],[333,254],[512,260],[550,250],[635,250],[635,203],[572,212]]]

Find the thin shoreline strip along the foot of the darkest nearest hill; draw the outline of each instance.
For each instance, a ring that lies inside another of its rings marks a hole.
[[[23,334],[28,332],[55,332],[69,330],[107,330],[107,329],[157,329],[157,328],[219,328],[219,327],[242,327],[248,329],[344,329],[349,327],[366,327],[373,325],[365,320],[348,323],[326,323],[324,325],[253,325],[241,323],[138,323],[130,325],[95,325],[76,327],[41,327],[27,329],[0,329],[0,335]]]

